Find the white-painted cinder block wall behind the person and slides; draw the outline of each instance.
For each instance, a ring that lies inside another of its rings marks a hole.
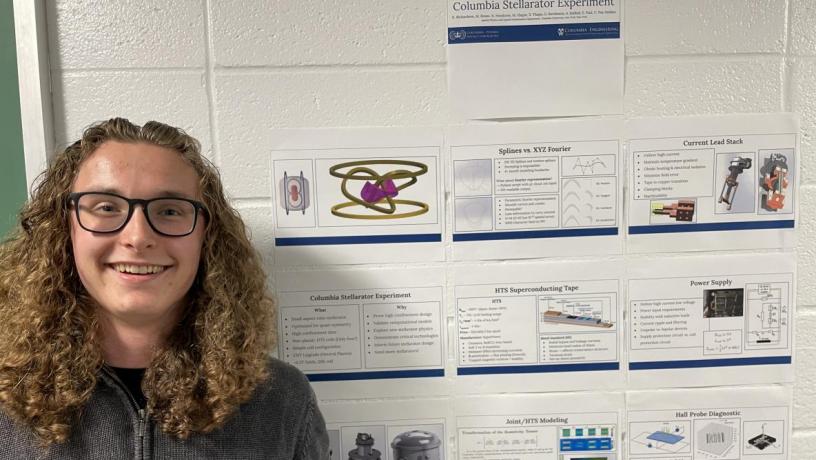
[[[57,143],[111,116],[198,137],[268,254],[273,128],[444,125],[445,0],[48,1]],[[798,113],[793,458],[816,452],[816,0],[627,0],[625,115]]]

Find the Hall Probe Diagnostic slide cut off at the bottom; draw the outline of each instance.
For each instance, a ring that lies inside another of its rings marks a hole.
[[[790,459],[790,388],[635,391],[626,401],[631,460]]]

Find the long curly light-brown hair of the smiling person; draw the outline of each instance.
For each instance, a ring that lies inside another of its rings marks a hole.
[[[0,245],[0,408],[44,445],[68,439],[103,365],[95,302],[74,264],[67,203],[82,162],[109,140],[178,152],[198,174],[208,211],[189,304],[145,372],[151,418],[182,439],[221,426],[267,377],[274,345],[260,258],[198,141],[154,121],[93,125],[41,175],[19,228]]]

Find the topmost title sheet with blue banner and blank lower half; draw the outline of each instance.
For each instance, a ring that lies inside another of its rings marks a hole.
[[[448,0],[448,92],[465,119],[623,111],[622,0]]]

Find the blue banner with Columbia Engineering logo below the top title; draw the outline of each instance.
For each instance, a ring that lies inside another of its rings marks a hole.
[[[448,27],[448,44],[620,38],[620,22]]]

